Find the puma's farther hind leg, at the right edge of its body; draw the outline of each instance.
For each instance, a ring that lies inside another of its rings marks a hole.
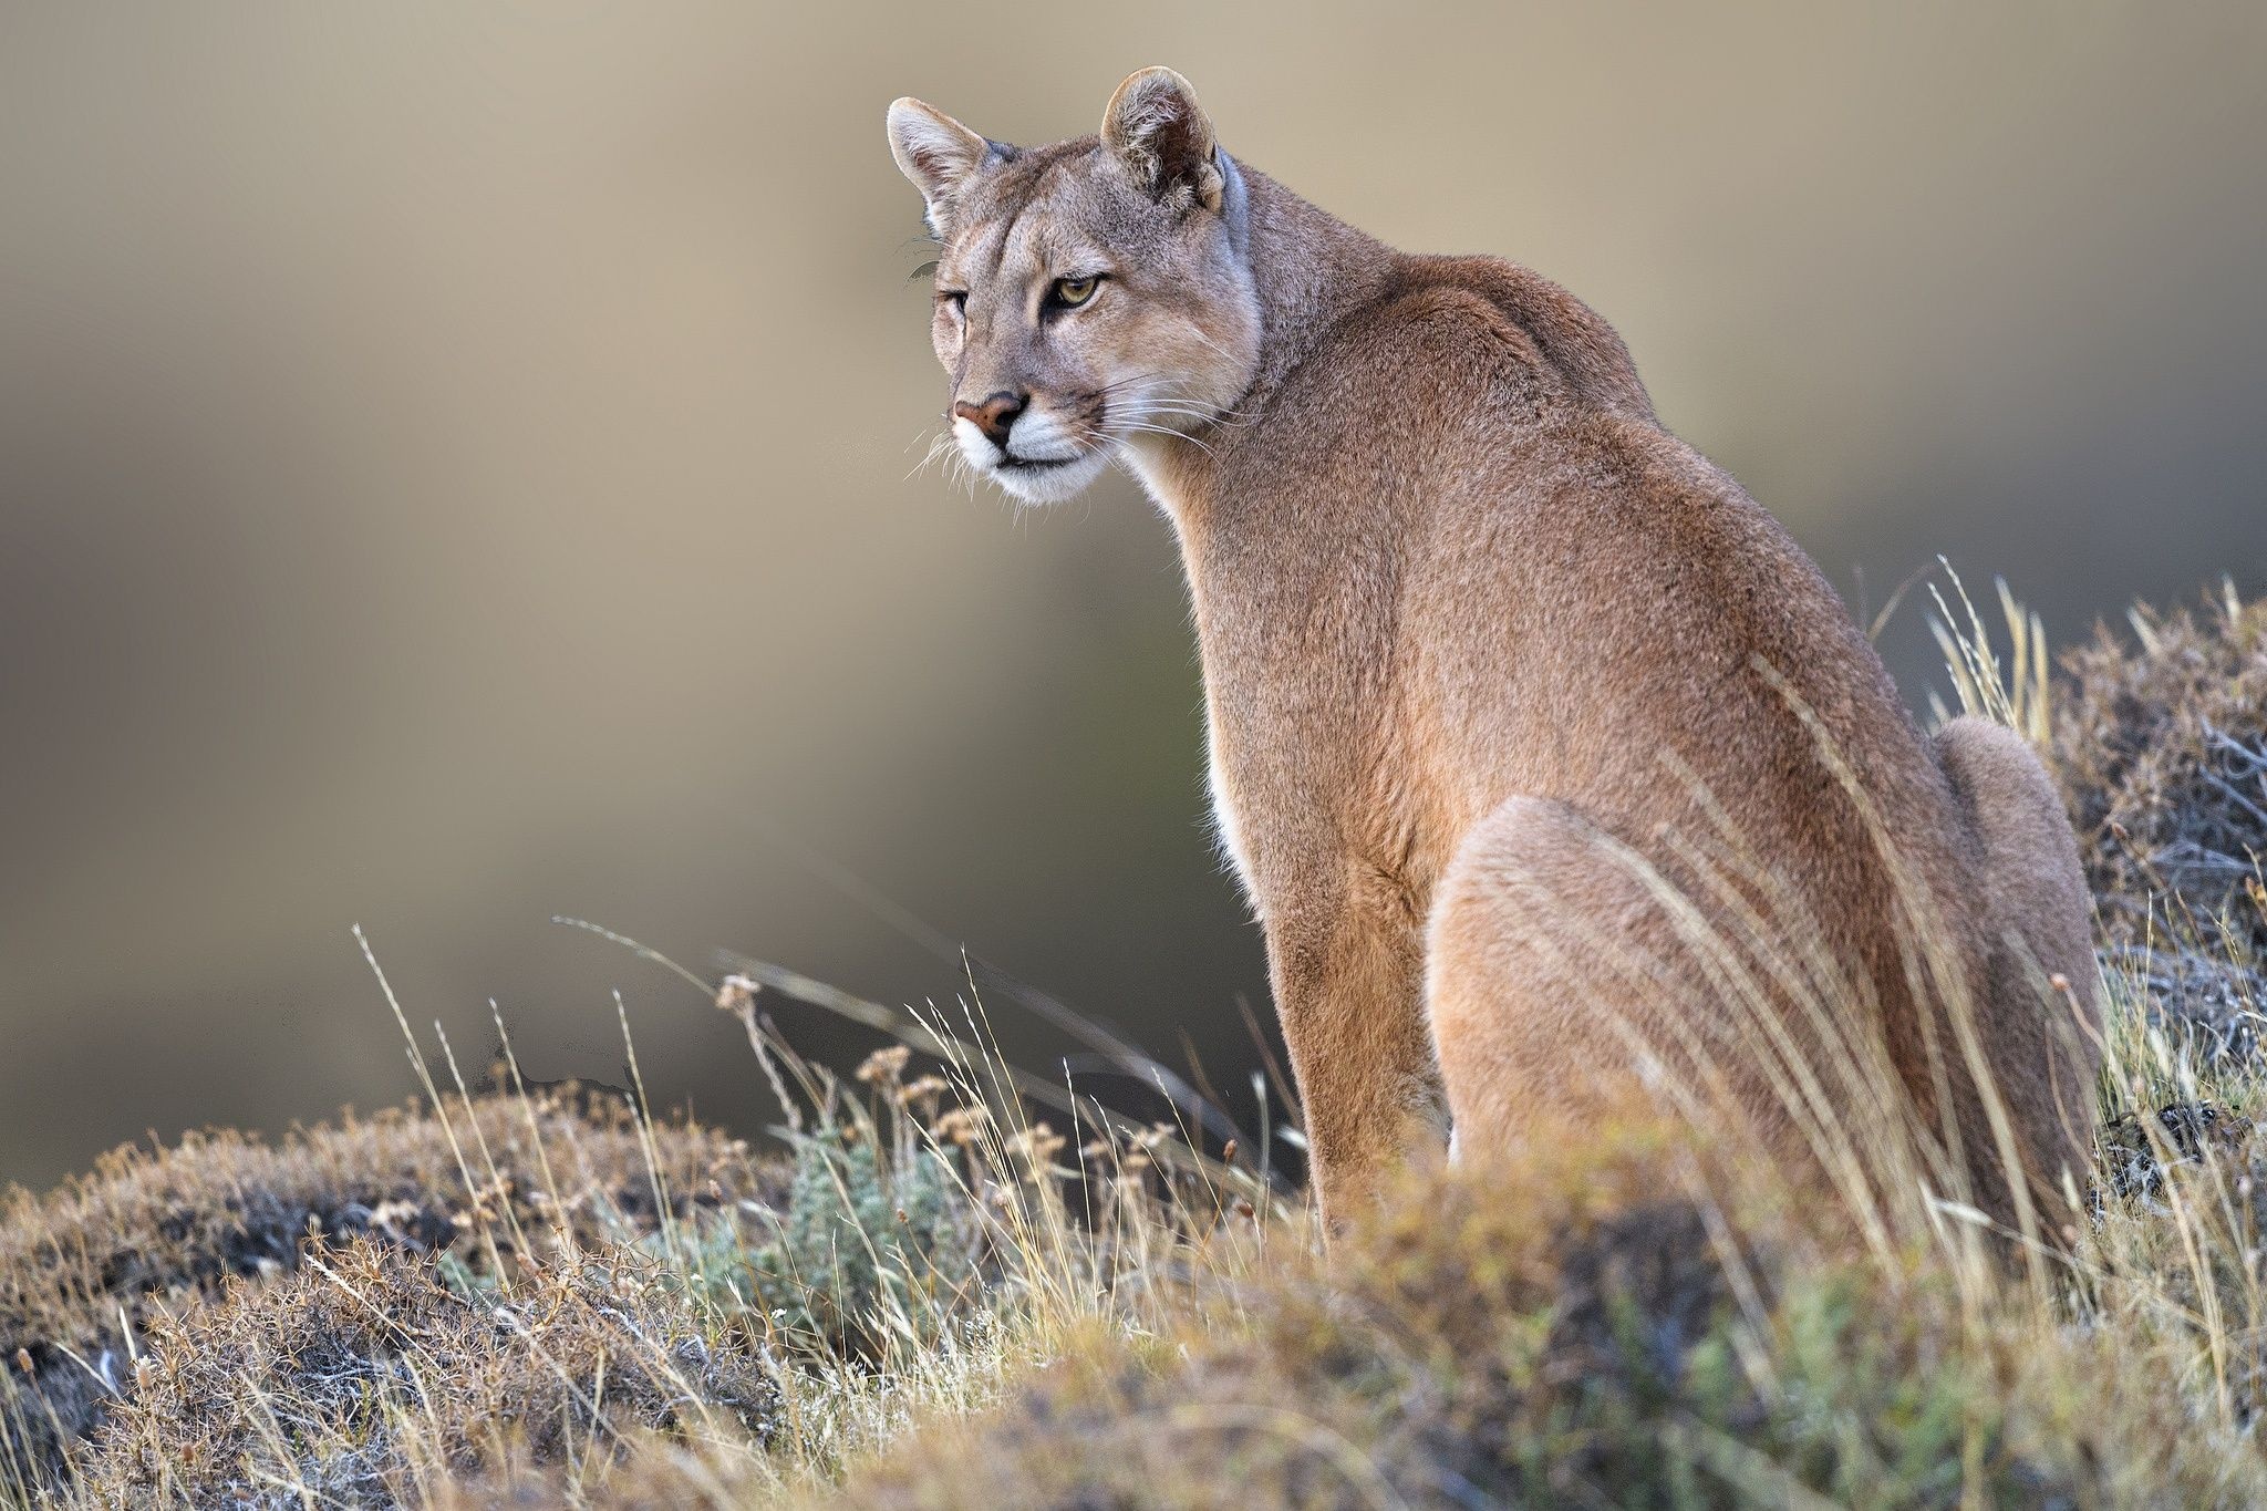
[[[2086,1189],[2095,1074],[2102,1069],[2102,1004],[2079,845],[2054,782],[2013,729],[1954,718],[1936,734],[1936,759],[1981,861],[1970,906],[1986,949],[1977,992],[1984,1060],[2029,1164],[2031,1192],[2061,1226],[2072,1217],[2065,1171],[2079,1194]],[[1970,1164],[1979,1192],[2004,1189],[1995,1155]]]

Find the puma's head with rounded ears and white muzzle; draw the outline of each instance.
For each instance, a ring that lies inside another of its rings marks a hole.
[[[1029,503],[1070,498],[1145,437],[1217,419],[1258,367],[1236,165],[1188,79],[1145,68],[1102,134],[986,140],[918,102],[889,150],[927,202],[952,435]]]

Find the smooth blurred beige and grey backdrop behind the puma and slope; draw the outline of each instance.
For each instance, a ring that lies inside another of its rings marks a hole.
[[[2247,0],[7,5],[0,1180],[408,1094],[356,922],[462,1056],[496,999],[619,1081],[621,988],[655,1101],[757,1128],[739,1028],[549,920],[954,997],[846,877],[1242,1087],[1168,530],[914,471],[882,136],[1090,131],[1158,61],[1326,208],[1589,299],[1854,609],[1936,553],[2056,639],[2267,587]],[[1884,648],[1925,700],[1918,603]]]

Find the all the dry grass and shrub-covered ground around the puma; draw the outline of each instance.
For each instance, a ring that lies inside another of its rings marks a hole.
[[[1786,1090],[1839,1201],[1662,1081],[1322,1260],[1251,1151],[1016,1076],[977,1010],[834,994],[927,1053],[834,1078],[735,979],[782,1158],[428,1090],[14,1194],[0,1506],[2262,1504],[2267,618],[2142,614],[2049,686],[2004,607],[2009,655],[1947,623],[1956,691],[2054,750],[2104,893],[2081,1232],[1986,1232],[1852,1058]]]

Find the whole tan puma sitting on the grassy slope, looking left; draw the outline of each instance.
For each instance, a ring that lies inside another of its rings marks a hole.
[[[1331,1221],[1437,1144],[1442,1090],[1460,1149],[1517,1149],[1650,1074],[1800,1162],[1868,1056],[1972,1201],[2070,1217],[2099,1008],[2045,772],[2004,729],[1913,727],[1596,313],[1331,220],[1170,70],[1097,138],[1002,147],[902,100],[891,143],[954,401],[1027,406],[968,460],[1025,498],[1120,460],[1179,532]]]

